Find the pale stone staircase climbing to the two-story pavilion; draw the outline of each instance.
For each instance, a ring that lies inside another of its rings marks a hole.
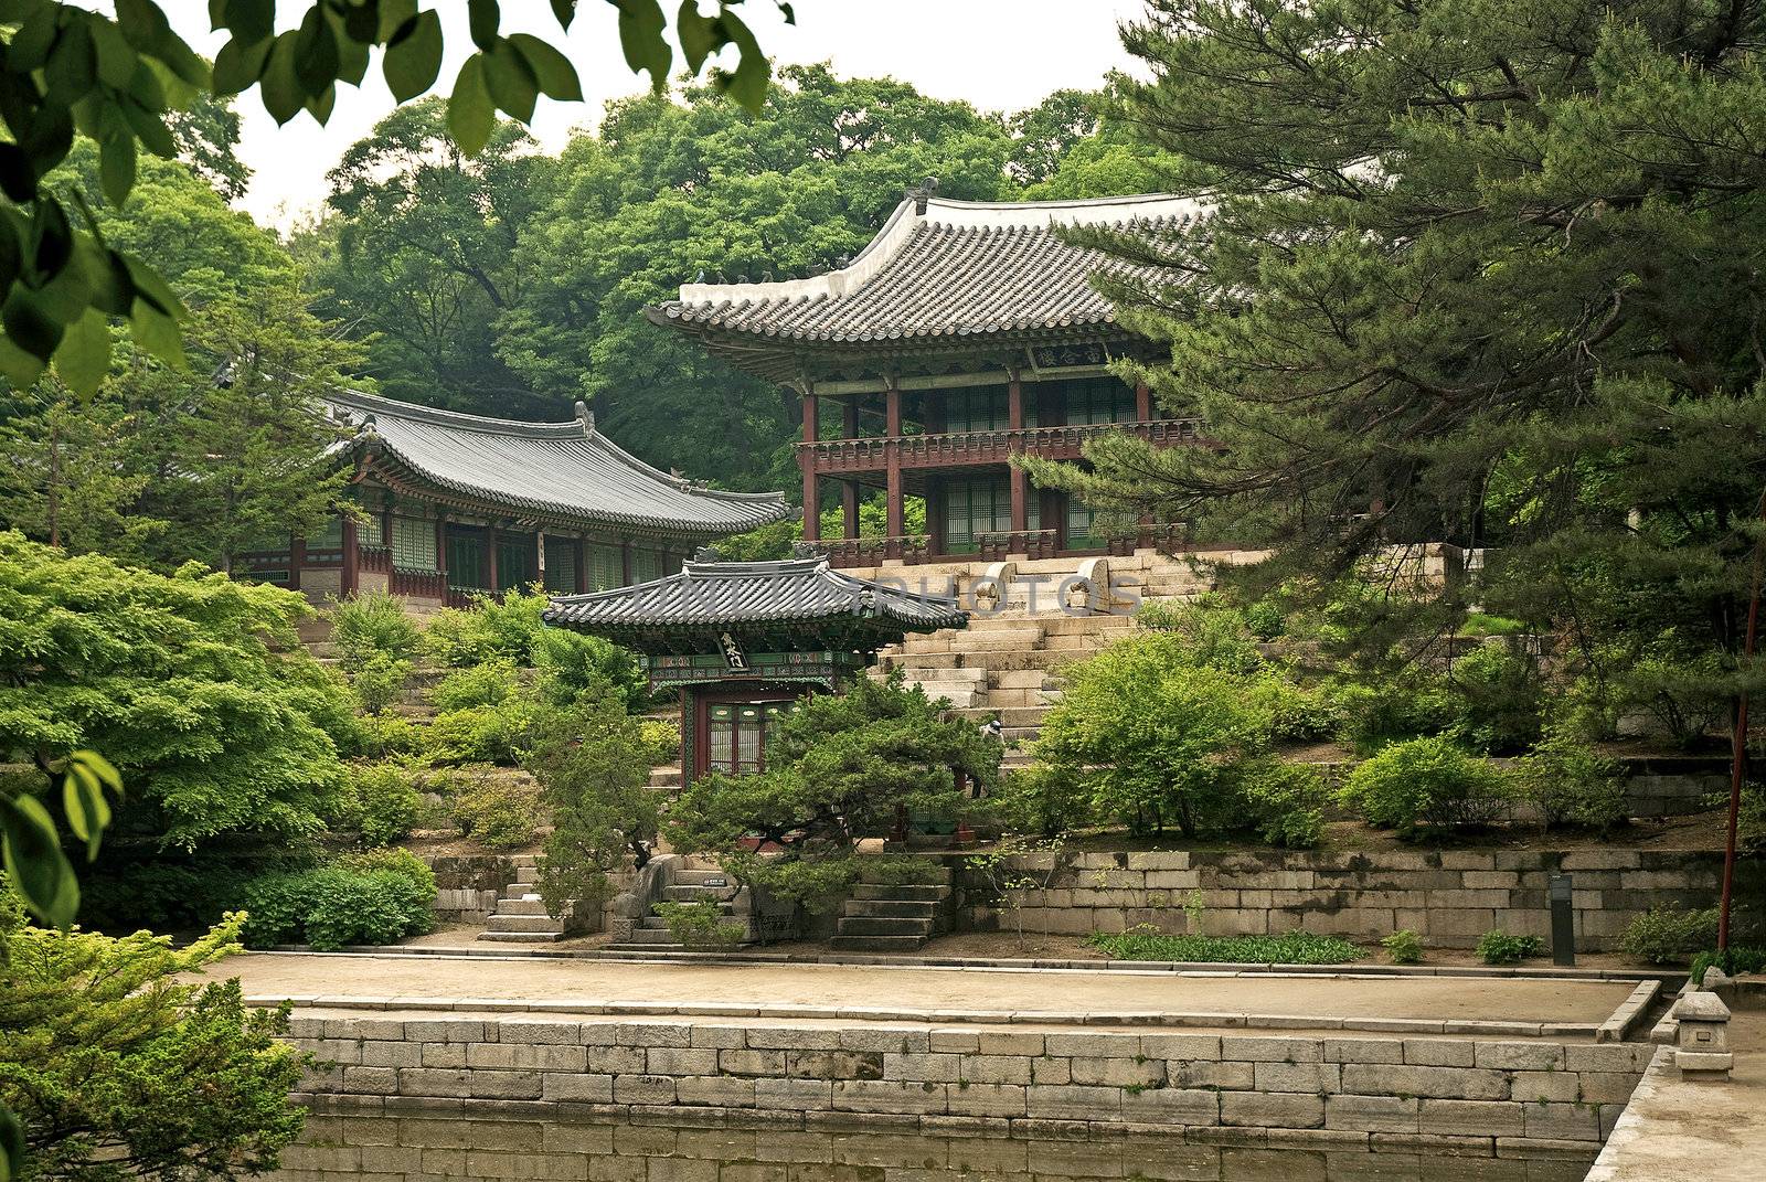
[[[922,580],[936,594],[955,588],[975,611],[966,629],[908,636],[881,650],[874,675],[899,668],[909,684],[932,698],[948,698],[954,712],[977,726],[998,716],[1007,765],[1023,763],[1028,758],[1023,747],[1035,742],[1042,717],[1060,700],[1060,666],[1134,631],[1139,602],[1192,599],[1208,590],[1206,576],[1181,558],[1139,551],[1107,564],[1114,599],[1083,610],[1063,602],[1063,583],[1081,571],[1088,576],[1102,571],[1077,558],[1017,562],[1008,571],[980,562],[855,571],[865,578],[906,578],[911,590],[920,590]],[[977,588],[992,590],[1001,581],[1005,594],[998,602],[977,599]]]

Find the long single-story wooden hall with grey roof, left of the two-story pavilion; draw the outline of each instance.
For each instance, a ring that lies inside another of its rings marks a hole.
[[[795,512],[781,493],[722,493],[652,468],[595,429],[517,422],[369,394],[325,408],[346,429],[360,525],[343,514],[316,537],[247,555],[254,578],[321,602],[385,590],[413,608],[542,583],[553,592],[625,587],[678,571],[698,544]]]

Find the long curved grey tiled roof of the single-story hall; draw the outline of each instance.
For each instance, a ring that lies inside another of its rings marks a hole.
[[[586,412],[569,422],[517,422],[373,394],[327,401],[358,443],[413,481],[514,511],[705,537],[793,512],[781,493],[722,493],[652,468],[595,431]]]

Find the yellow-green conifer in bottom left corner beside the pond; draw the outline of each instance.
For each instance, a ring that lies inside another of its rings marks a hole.
[[[44,931],[0,896],[0,1102],[28,1178],[233,1177],[277,1166],[304,1113],[288,1012],[238,981],[180,981],[240,951],[244,915],[182,949],[145,931]]]

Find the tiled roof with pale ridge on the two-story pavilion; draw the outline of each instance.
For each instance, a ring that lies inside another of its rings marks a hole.
[[[841,270],[784,283],[692,283],[650,318],[701,336],[779,345],[934,341],[1114,327],[1091,284],[1097,272],[1141,274],[1065,242],[1056,226],[1158,230],[1204,210],[1196,198],[1091,201],[902,201],[883,231]]]

